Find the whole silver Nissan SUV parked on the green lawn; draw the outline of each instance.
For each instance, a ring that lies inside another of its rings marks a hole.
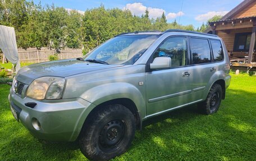
[[[218,110],[230,85],[222,39],[184,30],[124,33],[83,58],[22,68],[13,80],[13,116],[31,134],[79,140],[89,159],[124,153],[148,118],[198,103]]]

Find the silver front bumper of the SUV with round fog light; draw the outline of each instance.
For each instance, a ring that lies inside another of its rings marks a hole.
[[[47,101],[21,98],[13,93],[12,89],[8,99],[18,121],[28,128],[31,134],[39,139],[52,141],[75,141],[88,111],[95,107],[81,98]],[[25,103],[28,102],[36,103],[35,107],[27,107]],[[40,123],[40,128],[33,125],[34,120]]]

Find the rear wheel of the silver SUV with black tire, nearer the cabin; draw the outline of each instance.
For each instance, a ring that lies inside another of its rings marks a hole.
[[[212,114],[218,111],[222,99],[222,88],[220,84],[213,84],[204,102],[198,104],[198,108],[204,114]]]

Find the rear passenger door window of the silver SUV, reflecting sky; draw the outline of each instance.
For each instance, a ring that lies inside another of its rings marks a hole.
[[[211,62],[211,48],[208,39],[190,38],[193,65]]]

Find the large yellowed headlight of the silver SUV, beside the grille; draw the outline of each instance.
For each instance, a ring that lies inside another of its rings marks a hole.
[[[61,77],[40,77],[28,88],[27,96],[34,99],[61,99],[66,80]]]

